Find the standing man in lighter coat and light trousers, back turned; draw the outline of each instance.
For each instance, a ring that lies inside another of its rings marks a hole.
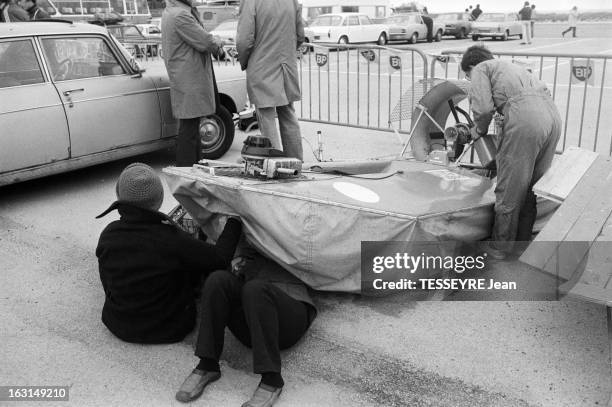
[[[296,50],[302,42],[304,25],[296,0],[240,2],[236,49],[259,128],[278,148],[278,115],[283,151],[300,160],[302,137],[293,102],[300,100]]]

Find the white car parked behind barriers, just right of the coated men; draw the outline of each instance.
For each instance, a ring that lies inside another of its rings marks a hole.
[[[370,17],[359,13],[321,14],[308,26],[313,43],[363,43],[375,42],[385,45],[389,39],[389,28],[385,24],[374,24]]]

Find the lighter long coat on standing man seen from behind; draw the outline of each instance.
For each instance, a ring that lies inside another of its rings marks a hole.
[[[300,100],[296,50],[304,42],[296,0],[242,0],[236,49],[247,72],[255,106],[284,106]]]

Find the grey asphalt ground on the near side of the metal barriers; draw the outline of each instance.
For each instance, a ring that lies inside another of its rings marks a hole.
[[[321,130],[327,159],[400,148],[393,133],[301,126],[312,145]],[[239,133],[225,160],[238,158],[243,139]],[[173,345],[134,345],[100,322],[94,249],[114,215],[94,217],[133,161],[161,170],[173,156],[148,154],[0,191],[0,384],[70,386],[70,401],[54,405],[179,404],[174,393],[197,361],[194,334]],[[175,203],[167,193],[162,208]],[[309,333],[283,353],[279,406],[593,406],[612,391],[602,306],[338,293],[315,300],[320,313]],[[257,385],[249,351],[231,334],[222,373],[193,405],[240,405]]]

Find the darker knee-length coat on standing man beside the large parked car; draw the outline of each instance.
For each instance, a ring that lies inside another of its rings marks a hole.
[[[170,79],[172,113],[177,119],[192,119],[216,110],[210,53],[217,46],[191,14],[176,0],[167,0],[162,15],[162,49]]]

